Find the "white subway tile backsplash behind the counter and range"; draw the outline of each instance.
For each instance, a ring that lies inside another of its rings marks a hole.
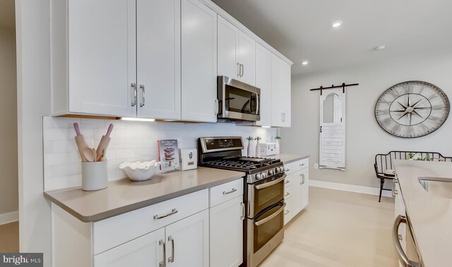
[[[273,140],[275,129],[237,126],[235,124],[181,124],[102,119],[73,119],[43,117],[44,133],[44,190],[63,189],[81,185],[81,158],[74,137],[73,124],[80,125],[88,146],[97,144],[114,124],[107,150],[109,179],[121,179],[125,174],[119,164],[126,160],[155,160],[157,140],[176,138],[179,148],[197,148],[201,136],[261,136]],[[245,141],[246,146],[246,141]]]

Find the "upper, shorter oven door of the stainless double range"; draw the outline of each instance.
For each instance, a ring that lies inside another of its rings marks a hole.
[[[254,218],[266,208],[284,199],[285,177],[286,174],[280,174],[273,179],[248,185],[248,218]]]

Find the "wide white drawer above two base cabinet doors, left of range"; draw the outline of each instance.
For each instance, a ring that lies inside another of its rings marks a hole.
[[[208,189],[204,189],[95,222],[93,254],[129,242],[207,208]]]

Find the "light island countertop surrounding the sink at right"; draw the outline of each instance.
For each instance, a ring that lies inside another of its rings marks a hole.
[[[405,210],[422,266],[452,266],[452,199],[424,190],[419,177],[452,182],[452,162],[396,160]]]

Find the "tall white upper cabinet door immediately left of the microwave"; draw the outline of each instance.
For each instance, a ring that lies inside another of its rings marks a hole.
[[[217,14],[182,0],[182,119],[217,121]]]

